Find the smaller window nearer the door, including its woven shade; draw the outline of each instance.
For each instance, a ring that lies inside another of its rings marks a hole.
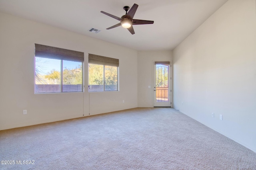
[[[89,92],[118,91],[119,60],[89,54]]]

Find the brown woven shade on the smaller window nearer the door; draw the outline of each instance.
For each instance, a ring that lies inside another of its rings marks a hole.
[[[110,57],[104,57],[100,55],[94,55],[94,54],[89,54],[88,56],[89,64],[99,64],[99,65],[106,65],[106,66],[119,66],[119,59],[113,59]]]

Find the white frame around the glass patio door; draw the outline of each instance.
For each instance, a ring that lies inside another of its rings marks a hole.
[[[170,62],[170,68],[169,68],[169,75],[170,75],[170,83],[169,83],[169,97],[170,97],[170,100],[171,100],[171,107],[173,106],[173,101],[172,101],[172,92],[173,92],[173,90],[172,90],[172,86],[173,86],[173,84],[172,84],[172,72],[173,72],[173,70],[172,70],[172,60],[153,60],[152,61],[152,106],[153,107],[155,107],[154,106],[154,93],[155,93],[155,91],[154,91],[154,86],[155,86],[155,84],[154,84],[154,66],[155,66],[155,64],[154,64],[154,62],[157,62],[157,61],[168,61],[168,62]],[[157,107],[157,106],[156,106]]]

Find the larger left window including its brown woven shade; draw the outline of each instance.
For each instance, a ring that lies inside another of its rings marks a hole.
[[[35,44],[35,93],[83,92],[84,53]]]

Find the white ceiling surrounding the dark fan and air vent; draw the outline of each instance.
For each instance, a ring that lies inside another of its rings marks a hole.
[[[172,50],[228,0],[0,0],[0,12],[20,16],[138,51]],[[107,30],[124,6],[136,3],[134,19],[154,24]],[[89,32],[91,27],[99,33]]]

